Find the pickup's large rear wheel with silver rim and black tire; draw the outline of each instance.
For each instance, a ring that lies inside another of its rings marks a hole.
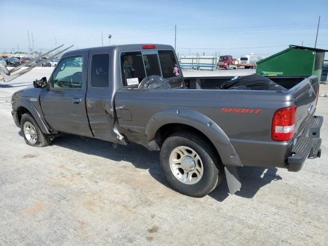
[[[223,165],[214,147],[189,132],[174,133],[164,141],[160,165],[170,185],[188,196],[207,195],[223,178]]]

